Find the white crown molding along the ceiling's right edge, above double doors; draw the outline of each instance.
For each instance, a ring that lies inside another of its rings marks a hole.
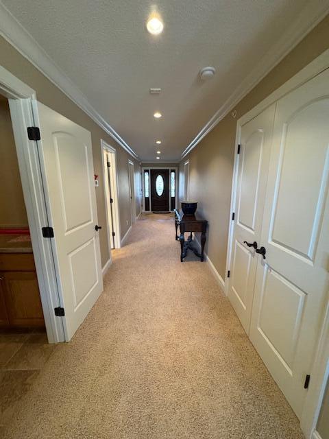
[[[197,136],[182,152],[182,158],[189,154],[197,144],[223,119],[228,112],[234,109],[249,91],[265,78],[265,76],[297,46],[298,43],[315,27],[329,12],[328,1],[309,1],[297,19],[291,23],[282,36],[271,47],[271,50],[263,56],[256,67],[249,73],[243,82],[228,97],[226,102],[215,112],[215,115],[206,123]]]

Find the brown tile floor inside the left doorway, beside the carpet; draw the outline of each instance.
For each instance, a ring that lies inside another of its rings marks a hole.
[[[0,333],[0,426],[10,421],[14,403],[29,390],[55,348],[40,330]]]

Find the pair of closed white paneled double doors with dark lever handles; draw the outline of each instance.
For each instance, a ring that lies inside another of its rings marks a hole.
[[[298,417],[328,300],[328,177],[326,70],[242,127],[236,187],[228,295]]]

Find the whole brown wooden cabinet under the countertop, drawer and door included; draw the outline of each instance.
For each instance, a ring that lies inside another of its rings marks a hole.
[[[44,327],[33,254],[0,254],[0,279],[0,325]]]

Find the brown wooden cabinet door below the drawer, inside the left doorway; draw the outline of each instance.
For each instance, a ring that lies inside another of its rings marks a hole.
[[[1,278],[10,324],[43,327],[45,320],[36,272],[3,272]]]

